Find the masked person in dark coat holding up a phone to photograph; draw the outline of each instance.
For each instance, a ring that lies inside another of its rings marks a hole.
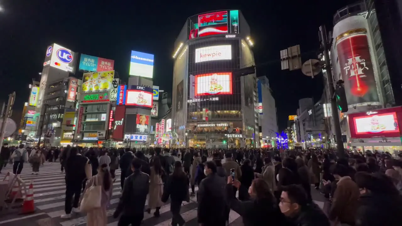
[[[244,201],[236,199],[233,195],[233,187],[238,189],[239,197],[245,197]],[[251,186],[246,188],[241,186],[240,181],[233,181],[232,177],[228,177],[226,185],[226,195],[228,197],[228,205],[232,210],[242,216],[244,226],[265,226],[267,222],[262,220],[269,219],[269,225],[287,226],[283,214],[281,214],[274,195],[264,179],[255,179]]]

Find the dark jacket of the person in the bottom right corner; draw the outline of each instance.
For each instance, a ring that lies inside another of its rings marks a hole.
[[[402,213],[401,196],[389,194],[365,194],[359,198],[356,214],[356,226],[397,226]]]

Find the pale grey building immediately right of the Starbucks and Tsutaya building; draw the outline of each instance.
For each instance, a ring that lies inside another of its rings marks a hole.
[[[266,76],[258,77],[258,125],[260,131],[261,146],[272,147],[275,145],[278,132],[277,109],[269,80]]]

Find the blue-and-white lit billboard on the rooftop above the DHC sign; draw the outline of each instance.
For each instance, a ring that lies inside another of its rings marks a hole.
[[[154,74],[154,55],[131,51],[129,75],[152,78]]]

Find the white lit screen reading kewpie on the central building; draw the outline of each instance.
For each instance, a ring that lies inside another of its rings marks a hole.
[[[211,60],[232,60],[231,45],[215,45],[195,49],[195,62]]]

